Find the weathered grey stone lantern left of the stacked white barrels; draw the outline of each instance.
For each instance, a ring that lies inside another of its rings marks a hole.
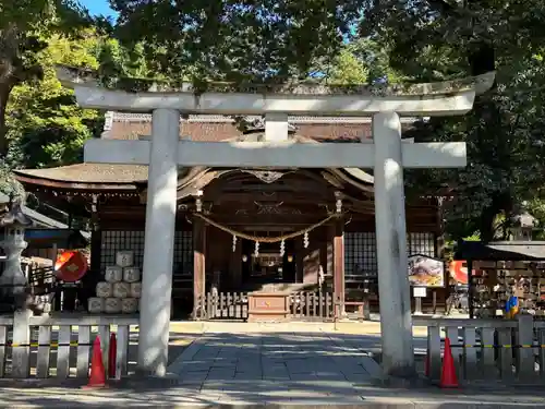
[[[0,294],[2,301],[12,302],[22,309],[26,304],[27,280],[21,268],[21,253],[26,249],[25,228],[32,220],[23,213],[21,202],[11,202],[9,210],[0,216],[0,229],[3,240],[0,246],[5,253],[4,270],[0,275]]]

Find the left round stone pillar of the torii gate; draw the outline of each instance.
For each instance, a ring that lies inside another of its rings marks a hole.
[[[180,113],[153,113],[140,313],[138,370],[165,376],[169,347]]]

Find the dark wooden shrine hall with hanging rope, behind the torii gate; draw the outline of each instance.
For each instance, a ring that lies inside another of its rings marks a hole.
[[[149,115],[107,112],[101,139],[149,139],[150,121]],[[405,118],[402,125],[413,121]],[[300,143],[371,137],[368,118],[290,117],[290,127],[289,137]],[[234,123],[230,117],[190,116],[180,127],[182,140],[261,141],[263,134],[257,117]],[[102,279],[118,251],[133,251],[142,268],[147,176],[146,166],[87,163],[16,171],[40,201],[90,220],[88,275],[94,280],[86,282],[93,284]],[[409,203],[407,229],[409,254],[441,255],[436,200]],[[257,290],[322,288],[344,300],[349,312],[364,298],[378,310],[373,177],[356,168],[179,168],[173,253],[172,310],[178,317],[193,312],[194,317],[214,318],[194,309],[208,293],[232,293],[234,300]],[[424,309],[432,301],[440,308],[445,291],[429,292]],[[94,288],[81,293],[94,297]]]

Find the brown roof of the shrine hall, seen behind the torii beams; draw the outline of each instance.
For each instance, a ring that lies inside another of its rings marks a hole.
[[[138,140],[152,133],[152,117],[146,115],[108,112],[106,115],[102,139]],[[414,121],[405,120],[410,127]],[[296,128],[295,139],[300,142],[359,142],[371,137],[371,121],[365,118],[317,118],[293,117],[291,121]],[[238,140],[242,132],[233,124],[232,119],[220,116],[195,116],[181,120],[180,137],[193,141],[218,142]],[[245,135],[247,139],[250,135]],[[122,189],[134,190],[134,183],[147,181],[147,166],[77,164],[48,169],[16,170],[22,182],[57,185],[64,188]],[[77,185],[80,184],[80,185]]]

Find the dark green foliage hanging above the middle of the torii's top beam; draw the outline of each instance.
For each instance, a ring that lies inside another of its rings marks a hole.
[[[306,77],[335,58],[363,0],[110,0],[123,44],[145,40],[150,69],[177,79]]]

